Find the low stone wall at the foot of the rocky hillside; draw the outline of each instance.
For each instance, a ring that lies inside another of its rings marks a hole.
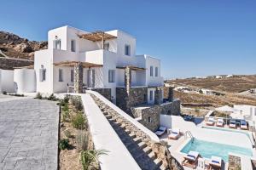
[[[34,61],[26,59],[6,59],[0,58],[0,69],[13,70],[14,67],[33,65]]]

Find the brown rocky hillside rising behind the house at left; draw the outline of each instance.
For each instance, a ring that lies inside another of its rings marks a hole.
[[[15,34],[0,31],[0,57],[33,59],[34,52],[47,48],[47,42],[29,41]]]

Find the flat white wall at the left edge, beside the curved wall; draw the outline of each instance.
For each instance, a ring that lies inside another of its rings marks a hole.
[[[2,92],[14,93],[14,71],[2,70],[1,79]]]

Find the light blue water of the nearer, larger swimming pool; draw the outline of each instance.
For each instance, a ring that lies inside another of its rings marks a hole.
[[[212,156],[222,157],[225,162],[229,161],[229,152],[245,156],[253,156],[252,150],[247,148],[229,144],[218,144],[199,139],[195,139],[194,142],[190,140],[189,143],[183,147],[181,152],[188,154],[189,150],[197,151],[202,157],[209,159],[211,159]]]

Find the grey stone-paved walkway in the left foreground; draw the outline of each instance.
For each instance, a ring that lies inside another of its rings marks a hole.
[[[39,99],[0,102],[0,170],[55,170],[57,155],[55,102]]]

